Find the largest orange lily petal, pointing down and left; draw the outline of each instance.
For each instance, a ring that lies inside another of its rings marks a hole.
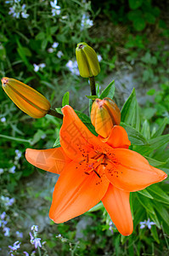
[[[49,212],[55,223],[63,223],[87,212],[103,198],[110,182],[94,172],[87,175],[87,168],[86,163],[80,166],[72,161],[59,176]]]

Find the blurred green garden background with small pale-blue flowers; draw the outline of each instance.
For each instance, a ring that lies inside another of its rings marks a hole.
[[[61,107],[69,91],[70,106],[87,113],[90,88],[79,75],[75,56],[76,44],[86,42],[99,57],[101,73],[96,82],[100,90],[115,79],[114,99],[122,108],[131,93],[130,100],[136,102],[135,87],[140,132],[147,140],[157,132],[166,135],[168,14],[167,0],[1,0],[1,77],[31,85],[53,108]],[[15,241],[20,241],[20,248],[14,255],[168,255],[167,180],[156,187],[156,195],[148,190],[132,198],[137,214],[131,236],[115,230],[101,205],[65,224],[54,224],[48,210],[58,177],[26,162],[25,148],[56,146],[61,121],[49,115],[31,119],[3,89],[0,101],[0,255],[12,255],[8,246]],[[169,173],[169,139],[163,138],[161,148],[150,156],[154,165]],[[35,249],[30,242],[32,225],[38,225],[42,248]]]

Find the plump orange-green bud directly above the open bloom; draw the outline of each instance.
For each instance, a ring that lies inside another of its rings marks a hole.
[[[121,111],[110,98],[96,99],[92,106],[91,121],[100,136],[109,137],[113,126],[121,123]]]

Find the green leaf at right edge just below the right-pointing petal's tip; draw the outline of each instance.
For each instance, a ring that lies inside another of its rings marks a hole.
[[[158,185],[152,185],[147,190],[155,198],[155,201],[169,205],[169,196]]]

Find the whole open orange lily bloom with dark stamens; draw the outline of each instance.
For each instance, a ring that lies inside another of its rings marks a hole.
[[[60,174],[54,188],[49,217],[63,223],[87,212],[99,201],[123,236],[132,234],[130,192],[166,178],[166,173],[127,149],[127,132],[119,125],[110,137],[95,137],[70,106],[62,108],[60,148],[26,149],[26,160],[48,172]]]

